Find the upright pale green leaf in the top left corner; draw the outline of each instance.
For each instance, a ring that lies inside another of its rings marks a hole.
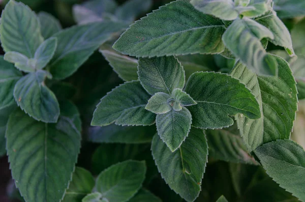
[[[19,52],[29,58],[43,42],[36,14],[23,3],[11,0],[1,15],[0,40],[5,52]]]

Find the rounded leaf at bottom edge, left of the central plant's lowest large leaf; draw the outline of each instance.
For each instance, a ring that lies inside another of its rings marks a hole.
[[[141,188],[145,178],[144,161],[128,160],[110,166],[97,178],[97,191],[111,202],[125,202]]]

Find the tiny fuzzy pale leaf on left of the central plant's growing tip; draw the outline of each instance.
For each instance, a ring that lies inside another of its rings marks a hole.
[[[153,113],[166,113],[169,112],[172,107],[169,105],[168,99],[170,96],[166,93],[156,93],[148,100],[145,109]]]

